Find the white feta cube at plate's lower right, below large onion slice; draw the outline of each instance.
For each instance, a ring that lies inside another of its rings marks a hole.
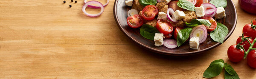
[[[199,46],[199,38],[198,37],[192,37],[189,40],[189,48],[191,49],[198,49]]]

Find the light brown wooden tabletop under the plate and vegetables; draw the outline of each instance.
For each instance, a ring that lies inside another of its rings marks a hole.
[[[224,44],[203,54],[175,57],[146,51],[129,40],[114,20],[114,0],[96,18],[83,14],[83,0],[1,0],[0,78],[201,79],[210,62],[224,59],[241,79],[256,79],[246,60],[232,63],[227,57],[243,26],[256,18],[233,1],[238,23]],[[224,71],[214,77],[219,78],[224,79]]]

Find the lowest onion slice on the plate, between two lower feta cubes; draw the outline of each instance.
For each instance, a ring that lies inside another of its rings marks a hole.
[[[176,48],[178,46],[177,41],[174,39],[163,40],[163,45],[166,46],[167,48]]]

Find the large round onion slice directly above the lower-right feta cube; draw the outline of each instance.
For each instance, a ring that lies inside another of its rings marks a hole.
[[[204,25],[195,26],[192,29],[192,32],[190,34],[190,38],[192,37],[198,37],[199,43],[204,42],[207,39],[207,29],[205,28],[205,26]]]

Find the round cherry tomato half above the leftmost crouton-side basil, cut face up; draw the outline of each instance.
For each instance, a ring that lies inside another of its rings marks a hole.
[[[145,6],[141,11],[141,14],[145,20],[153,20],[158,14],[158,8],[152,5]]]

